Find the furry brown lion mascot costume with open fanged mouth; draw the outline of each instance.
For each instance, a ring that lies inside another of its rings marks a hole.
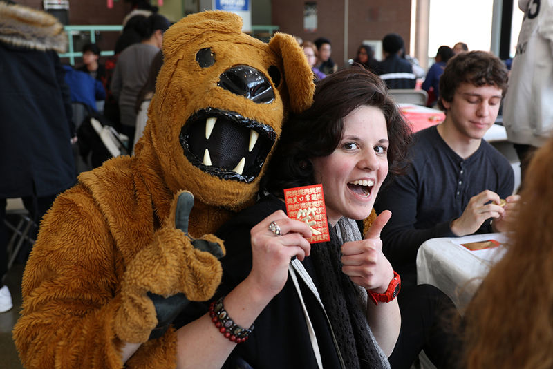
[[[171,26],[135,155],[82,173],[41,221],[14,329],[27,368],[176,366],[175,309],[221,281],[214,231],[254,202],[283,120],[315,89],[292,36],[241,26],[216,11]],[[122,363],[126,343],[140,348]]]

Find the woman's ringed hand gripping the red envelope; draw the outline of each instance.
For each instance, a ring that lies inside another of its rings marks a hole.
[[[272,222],[280,228],[280,236],[269,229]],[[286,283],[292,257],[303,260],[309,256],[311,245],[306,237],[312,236],[311,229],[306,223],[290,219],[284,211],[279,210],[261,220],[250,234],[252,272],[247,278],[251,278],[260,293],[274,296]]]

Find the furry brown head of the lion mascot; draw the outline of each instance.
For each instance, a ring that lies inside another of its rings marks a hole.
[[[312,103],[312,72],[297,41],[268,44],[228,12],[185,17],[165,32],[164,65],[140,146],[151,140],[176,193],[238,210],[254,200],[288,111]]]

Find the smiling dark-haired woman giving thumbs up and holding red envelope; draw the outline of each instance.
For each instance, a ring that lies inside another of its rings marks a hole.
[[[228,343],[209,327],[226,324],[216,314],[224,305],[224,319],[231,316],[232,330],[247,332],[247,341],[221,346],[234,348],[223,368],[389,368],[400,330],[400,278],[382,254],[379,231],[390,212],[364,238],[355,220],[372,214],[388,167],[402,172],[409,138],[409,126],[372,73],[349,68],[319,82],[311,108],[283,126],[265,196],[217,232],[227,247],[218,302],[211,318],[180,328],[182,337],[205,337],[207,330],[211,345]],[[285,188],[317,183],[330,241],[310,245],[312,231],[286,216],[281,199]]]

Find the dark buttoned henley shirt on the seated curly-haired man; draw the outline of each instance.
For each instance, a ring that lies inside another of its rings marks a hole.
[[[511,165],[485,140],[463,160],[432,126],[415,133],[409,156],[412,165],[406,176],[384,187],[375,203],[377,213],[392,211],[382,229],[382,250],[404,285],[416,283],[420,245],[429,238],[454,237],[449,223],[462,214],[472,196],[489,189],[505,198],[514,187]],[[490,219],[476,231],[488,232]]]

